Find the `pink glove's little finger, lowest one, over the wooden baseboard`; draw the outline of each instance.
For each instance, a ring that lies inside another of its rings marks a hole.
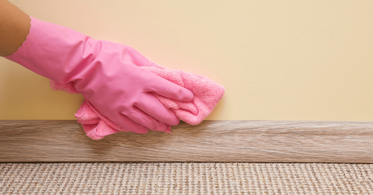
[[[120,127],[129,130],[134,133],[144,134],[149,131],[149,128],[146,128],[138,123],[135,123],[133,120],[129,119],[127,116],[117,113],[110,116],[110,120],[112,120],[115,124],[119,125]]]

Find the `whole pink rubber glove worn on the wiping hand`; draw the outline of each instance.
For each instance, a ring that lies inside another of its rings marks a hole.
[[[26,41],[6,59],[61,84],[74,81],[85,99],[131,132],[164,131],[180,122],[150,92],[179,101],[191,101],[193,93],[138,67],[153,66],[138,51],[30,18]]]

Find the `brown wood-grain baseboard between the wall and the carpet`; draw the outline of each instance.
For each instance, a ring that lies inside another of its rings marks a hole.
[[[0,161],[373,163],[373,122],[205,120],[94,141],[75,120],[0,120]]]

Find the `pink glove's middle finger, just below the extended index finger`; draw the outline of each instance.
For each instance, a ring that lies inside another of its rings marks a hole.
[[[150,92],[144,93],[144,95],[141,96],[141,100],[136,101],[134,106],[160,122],[169,125],[178,125],[180,123],[179,117],[177,117],[170,108],[166,108]]]

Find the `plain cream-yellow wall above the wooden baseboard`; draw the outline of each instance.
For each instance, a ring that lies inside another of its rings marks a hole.
[[[373,120],[373,1],[9,0],[226,93],[206,120]],[[0,58],[0,119],[75,119],[82,95]]]

